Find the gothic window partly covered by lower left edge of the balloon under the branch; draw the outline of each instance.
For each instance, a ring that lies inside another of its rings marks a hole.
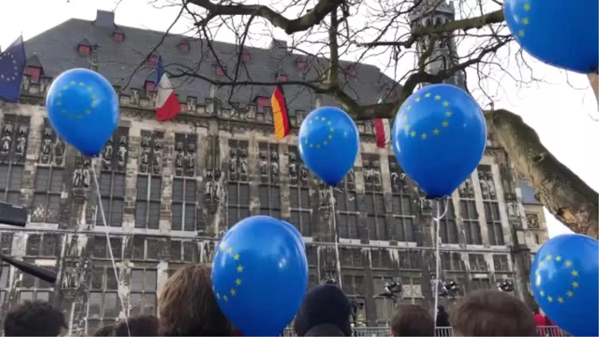
[[[406,173],[401,170],[395,157],[389,156],[391,175],[393,224],[390,228],[392,240],[415,242],[416,207],[408,190]]]

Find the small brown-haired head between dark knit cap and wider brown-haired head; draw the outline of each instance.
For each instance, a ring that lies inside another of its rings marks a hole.
[[[443,307],[439,306],[439,311]],[[391,319],[393,337],[434,337],[435,321],[418,305],[398,305]]]

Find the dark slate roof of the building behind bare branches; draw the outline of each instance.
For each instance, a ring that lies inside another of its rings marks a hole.
[[[122,32],[125,39],[122,43],[113,41],[114,32]],[[55,77],[70,68],[88,68],[89,56],[79,55],[77,46],[82,40],[89,41],[98,50],[98,72],[107,77],[113,85],[124,88],[127,86],[127,78],[134,69],[144,61],[147,55],[158,44],[163,32],[150,31],[146,29],[130,28],[114,25],[114,14],[98,11],[98,17],[94,22],[71,19],[61,23],[54,28],[43,32],[25,42],[26,53],[29,57],[37,56],[44,65],[43,72],[46,76]],[[184,41],[188,43],[189,52],[182,52],[179,45]],[[228,71],[232,72],[238,60],[238,46],[235,44],[213,41],[212,47],[219,55],[219,61],[228,65]],[[247,72],[253,82],[274,82],[277,74],[285,74],[288,80],[301,80],[305,78],[314,79],[314,68],[308,70],[307,75],[297,66],[298,58],[304,56],[294,55],[287,49],[258,49],[246,47],[246,52],[251,55],[251,61],[246,62]],[[182,35],[168,35],[161,46],[158,47],[158,55],[162,56],[165,70],[169,73],[177,73],[179,65],[197,68],[199,72],[208,78],[217,78],[216,61],[209,52],[208,43]],[[310,67],[323,64],[325,59],[310,59]],[[341,67],[353,65],[351,62],[341,62]],[[383,75],[379,68],[373,65],[355,65],[356,77],[344,78],[346,83],[344,90],[353,98],[357,98],[361,104],[376,103],[377,97],[383,89],[391,88],[393,85],[389,77]],[[129,88],[143,88],[146,79],[152,78],[154,69],[142,67],[131,79]],[[247,80],[246,71],[240,71],[239,81]],[[223,77],[221,80],[225,81]],[[200,79],[171,79],[176,86],[176,93],[181,101],[187,96],[198,98],[198,102],[210,97],[210,83]],[[234,94],[229,99],[230,88],[223,87],[218,91],[218,97],[223,102],[228,100],[240,103],[244,106],[252,102],[256,97],[270,97],[273,88],[261,86],[236,87]],[[303,86],[285,86],[285,94],[290,110],[310,111],[314,107],[316,97]],[[337,105],[334,98],[323,97],[323,105]]]

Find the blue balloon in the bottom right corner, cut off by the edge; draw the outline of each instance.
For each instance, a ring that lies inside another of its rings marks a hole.
[[[545,242],[534,256],[530,284],[552,321],[576,337],[597,336],[599,242],[563,234]]]

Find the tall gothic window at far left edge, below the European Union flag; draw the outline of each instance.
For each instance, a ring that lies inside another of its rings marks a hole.
[[[29,117],[4,115],[0,133],[0,201],[20,204]]]

